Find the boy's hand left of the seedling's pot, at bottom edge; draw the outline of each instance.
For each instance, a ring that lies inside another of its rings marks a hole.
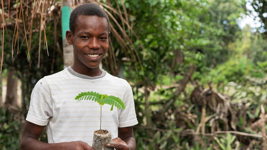
[[[90,145],[82,141],[67,142],[64,146],[67,150],[94,150]]]

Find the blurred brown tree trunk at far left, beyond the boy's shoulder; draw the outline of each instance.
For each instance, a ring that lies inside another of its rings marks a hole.
[[[16,70],[10,67],[7,71],[7,88],[6,88],[6,101],[5,105],[17,106],[17,85],[18,79],[15,76]]]

